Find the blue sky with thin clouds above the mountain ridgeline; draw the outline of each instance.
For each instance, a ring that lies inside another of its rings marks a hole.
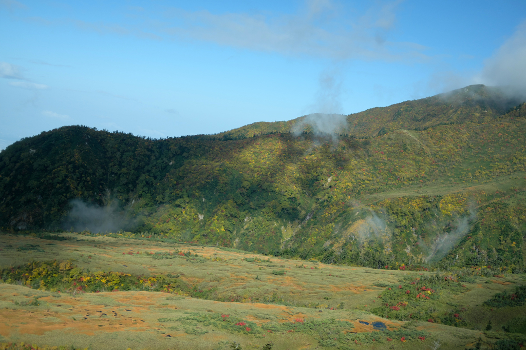
[[[0,149],[155,138],[526,84],[520,1],[0,0]]]

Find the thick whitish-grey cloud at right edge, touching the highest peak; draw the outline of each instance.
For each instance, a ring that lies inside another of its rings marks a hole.
[[[479,83],[526,89],[526,20],[489,59],[475,77]]]

